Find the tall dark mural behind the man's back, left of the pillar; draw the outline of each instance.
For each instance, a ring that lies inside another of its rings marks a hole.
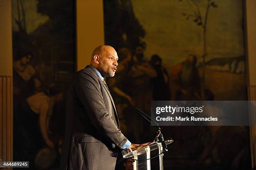
[[[13,160],[58,169],[65,84],[75,71],[74,2],[12,0]]]

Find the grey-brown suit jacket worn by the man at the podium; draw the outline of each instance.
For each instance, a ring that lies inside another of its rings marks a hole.
[[[108,87],[92,66],[74,75],[66,110],[60,170],[114,170],[115,153],[127,139]]]

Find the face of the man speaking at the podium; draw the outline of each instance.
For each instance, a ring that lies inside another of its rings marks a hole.
[[[115,76],[116,67],[118,66],[118,55],[114,48],[107,48],[101,53],[99,58],[99,71],[103,77]]]

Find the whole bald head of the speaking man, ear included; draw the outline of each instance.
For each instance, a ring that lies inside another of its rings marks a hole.
[[[103,77],[114,76],[118,55],[111,46],[98,46],[92,52],[91,65],[94,66]]]

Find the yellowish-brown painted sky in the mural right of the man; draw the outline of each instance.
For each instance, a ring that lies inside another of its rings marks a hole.
[[[194,1],[205,18],[207,0]],[[218,8],[210,8],[207,20],[206,61],[243,55],[242,0],[215,0],[215,3]],[[184,61],[189,53],[202,56],[203,29],[193,22],[193,18],[187,20],[182,15],[193,14],[196,10],[191,0],[132,0],[132,4],[136,17],[146,30],[142,40],[147,44],[145,56],[148,59],[156,53],[170,66]]]

